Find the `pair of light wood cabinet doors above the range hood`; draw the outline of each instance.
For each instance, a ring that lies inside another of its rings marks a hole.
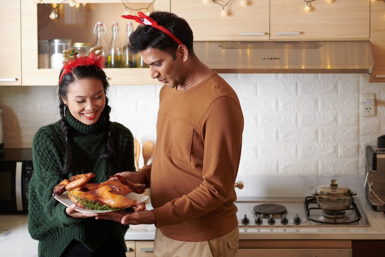
[[[370,0],[306,2],[298,0],[231,1],[221,5],[201,0],[171,0],[171,12],[185,18],[195,41],[369,39]],[[226,3],[226,1],[219,3]]]

